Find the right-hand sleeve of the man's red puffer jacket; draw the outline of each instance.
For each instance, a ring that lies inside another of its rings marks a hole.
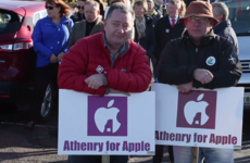
[[[129,73],[115,68],[108,72],[107,78],[110,88],[125,92],[142,92],[148,88],[152,72],[146,51],[141,47],[135,51],[133,61],[130,65],[133,68]]]

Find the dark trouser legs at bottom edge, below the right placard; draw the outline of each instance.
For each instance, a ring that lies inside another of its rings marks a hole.
[[[153,155],[153,163],[161,163],[163,158],[164,146],[155,146],[155,155]],[[173,146],[168,146],[170,161],[174,162]]]

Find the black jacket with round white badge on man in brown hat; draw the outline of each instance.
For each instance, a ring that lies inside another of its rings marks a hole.
[[[215,60],[210,62],[209,59]],[[193,78],[196,68],[209,70],[214,78],[202,85]],[[241,73],[241,64],[232,42],[214,35],[213,30],[202,38],[199,47],[187,33],[183,38],[172,40],[162,51],[158,65],[160,83],[180,85],[192,82],[196,88],[232,87],[237,84]]]

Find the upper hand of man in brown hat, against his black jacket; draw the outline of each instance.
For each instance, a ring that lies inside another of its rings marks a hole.
[[[193,77],[201,84],[208,84],[213,79],[213,74],[208,70],[197,68],[193,72]]]

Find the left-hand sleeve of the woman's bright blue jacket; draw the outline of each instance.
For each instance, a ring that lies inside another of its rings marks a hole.
[[[36,26],[35,26],[35,29],[33,32],[33,42],[34,42],[34,50],[37,52],[37,53],[40,53],[42,54],[46,59],[49,59],[50,55],[53,54],[53,52],[43,45],[42,42],[42,20],[38,21]]]

